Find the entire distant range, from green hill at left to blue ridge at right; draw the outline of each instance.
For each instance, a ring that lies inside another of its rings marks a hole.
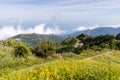
[[[113,34],[113,35],[117,35],[118,33],[120,33],[120,27],[119,28],[112,28],[112,27],[99,27],[93,30],[84,30],[84,31],[77,31],[74,32],[72,34],[67,34],[67,35],[45,35],[45,34],[19,34],[17,36],[12,37],[12,39],[16,40],[16,41],[21,41],[21,42],[25,42],[27,45],[29,46],[35,46],[37,45],[40,41],[43,40],[51,40],[54,42],[61,42],[63,41],[65,38],[67,37],[74,37],[77,35],[80,35],[82,33],[85,34],[89,34],[91,36],[98,36],[100,34]]]

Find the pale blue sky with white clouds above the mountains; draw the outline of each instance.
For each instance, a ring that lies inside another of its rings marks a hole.
[[[0,0],[0,40],[120,27],[120,0]]]

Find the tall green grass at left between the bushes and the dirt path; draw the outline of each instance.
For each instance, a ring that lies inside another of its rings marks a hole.
[[[15,70],[48,62],[47,59],[37,58],[33,55],[27,59],[14,57],[12,51],[12,48],[0,46],[0,77]]]

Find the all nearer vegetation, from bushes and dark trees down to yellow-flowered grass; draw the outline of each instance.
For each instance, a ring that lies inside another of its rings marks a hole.
[[[83,45],[80,46],[79,43]],[[109,55],[105,50],[115,51]],[[120,52],[116,50],[120,50],[120,34],[97,37],[80,34],[77,37],[67,38],[61,43],[45,40],[36,47],[30,47],[12,39],[5,40],[0,43],[0,79],[119,80]],[[56,61],[22,71],[20,74],[11,74],[11,72],[52,60]],[[101,68],[100,71],[98,68]],[[57,76],[52,73],[56,73]]]

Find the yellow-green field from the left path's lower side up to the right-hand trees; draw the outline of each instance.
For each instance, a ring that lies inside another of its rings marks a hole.
[[[71,55],[11,70],[0,80],[120,80],[120,51],[91,51],[77,57]]]

